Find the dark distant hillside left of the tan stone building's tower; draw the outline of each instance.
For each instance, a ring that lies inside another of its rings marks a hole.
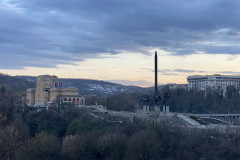
[[[9,76],[6,74],[0,73],[0,86],[4,86],[7,89],[12,89],[15,91],[25,91],[27,88],[32,88],[35,86],[35,83],[32,81],[27,81],[22,78]]]

